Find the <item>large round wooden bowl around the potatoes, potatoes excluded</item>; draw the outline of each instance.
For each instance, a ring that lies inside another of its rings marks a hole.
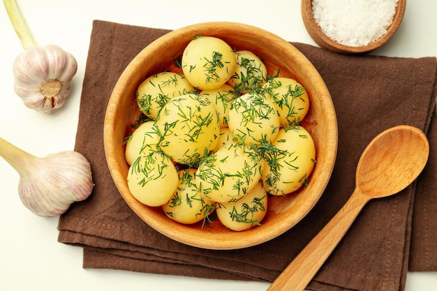
[[[272,197],[262,225],[244,232],[225,228],[216,220],[210,227],[201,223],[182,225],[167,218],[161,207],[141,204],[128,190],[128,164],[123,140],[139,116],[135,91],[149,75],[173,66],[184,47],[197,35],[216,36],[237,50],[251,50],[262,56],[269,74],[279,71],[302,82],[309,92],[310,110],[305,128],[316,144],[317,163],[308,187],[293,195]],[[142,50],[126,67],[114,87],[104,125],[105,154],[114,183],[126,203],[145,223],[171,239],[209,249],[236,249],[261,244],[283,234],[313,208],[331,176],[337,149],[337,124],[331,96],[318,71],[286,40],[245,24],[208,22],[172,31]]]

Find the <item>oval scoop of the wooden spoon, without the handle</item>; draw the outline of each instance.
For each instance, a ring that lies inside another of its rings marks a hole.
[[[396,126],[385,130],[362,153],[357,166],[357,188],[371,198],[398,193],[422,172],[428,147],[427,137],[418,128]]]

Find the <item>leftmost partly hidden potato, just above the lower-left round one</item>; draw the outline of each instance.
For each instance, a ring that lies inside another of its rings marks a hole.
[[[159,136],[154,130],[154,121],[146,121],[136,128],[126,142],[125,156],[129,165],[142,154],[149,151],[156,151]]]

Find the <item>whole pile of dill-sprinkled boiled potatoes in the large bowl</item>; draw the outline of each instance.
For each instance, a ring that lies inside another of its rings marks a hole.
[[[212,36],[191,40],[180,67],[138,87],[148,119],[126,142],[132,195],[179,223],[215,212],[231,230],[260,225],[269,196],[306,185],[316,163],[305,88]]]

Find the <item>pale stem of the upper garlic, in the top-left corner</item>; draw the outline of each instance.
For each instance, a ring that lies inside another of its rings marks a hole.
[[[15,0],[3,0],[3,3],[6,7],[6,11],[8,12],[10,22],[12,22],[12,25],[17,33],[18,38],[21,40],[24,50],[28,50],[30,47],[36,46],[36,40],[27,26],[26,20],[24,20],[24,17],[20,12],[20,8],[18,8]]]

